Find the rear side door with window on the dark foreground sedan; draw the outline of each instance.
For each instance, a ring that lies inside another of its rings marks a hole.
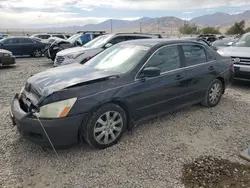
[[[182,45],[182,49],[186,66],[187,100],[200,100],[216,76],[215,58],[202,45]]]

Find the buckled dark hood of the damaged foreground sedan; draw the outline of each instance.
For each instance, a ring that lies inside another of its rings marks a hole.
[[[38,73],[27,80],[26,86],[32,87],[39,95],[48,96],[78,84],[87,84],[91,81],[102,81],[118,76],[117,73],[87,67],[78,63],[63,67],[52,68]]]

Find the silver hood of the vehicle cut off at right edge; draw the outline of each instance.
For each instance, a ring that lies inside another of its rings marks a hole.
[[[226,57],[250,57],[250,47],[225,47],[217,51],[220,55]]]

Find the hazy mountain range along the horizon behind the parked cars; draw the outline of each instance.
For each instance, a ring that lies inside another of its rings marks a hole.
[[[196,24],[197,26],[219,27],[222,32],[229,28],[236,21],[246,21],[246,26],[250,26],[250,10],[238,14],[227,14],[217,12],[195,17],[191,20],[183,20],[173,16],[165,16],[159,18],[143,17],[138,20],[106,20],[99,24],[88,24],[84,26],[69,26],[69,27],[50,27],[39,29],[40,32],[65,32],[75,33],[77,31],[103,30],[106,32],[151,32],[151,33],[166,33],[177,34],[179,28],[184,23]],[[112,25],[112,26],[111,26]],[[111,28],[112,27],[112,28]]]

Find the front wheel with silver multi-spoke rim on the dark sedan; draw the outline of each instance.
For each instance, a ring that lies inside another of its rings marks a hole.
[[[105,149],[121,139],[126,127],[126,113],[120,106],[110,103],[90,115],[87,124],[82,127],[81,135],[92,147]]]

